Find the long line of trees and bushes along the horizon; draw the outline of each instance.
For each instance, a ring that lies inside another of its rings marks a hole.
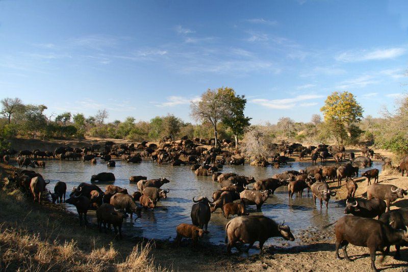
[[[350,92],[330,94],[319,114],[310,122],[296,122],[289,117],[279,118],[276,124],[250,125],[244,116],[246,99],[231,88],[208,90],[201,100],[191,105],[191,115],[199,123],[192,124],[168,114],[149,121],[134,117],[106,122],[109,113],[99,110],[94,116],[64,112],[46,116],[45,105],[23,104],[19,98],[1,101],[0,145],[7,147],[7,139],[33,137],[41,139],[83,139],[85,137],[158,141],[164,137],[173,140],[189,138],[219,138],[240,140],[245,133],[258,129],[262,137],[300,143],[340,143],[376,145],[395,153],[408,153],[408,97],[401,98],[395,113],[385,111],[381,118],[366,116],[363,108]],[[261,129],[260,129],[261,128]]]

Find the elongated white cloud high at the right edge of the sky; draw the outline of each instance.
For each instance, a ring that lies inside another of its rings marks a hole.
[[[357,50],[357,51],[347,51],[340,53],[335,57],[336,60],[342,62],[356,62],[356,61],[367,61],[367,60],[384,60],[384,59],[394,59],[396,57],[402,56],[406,53],[406,48],[404,47],[392,47],[385,49],[374,49],[374,50]]]

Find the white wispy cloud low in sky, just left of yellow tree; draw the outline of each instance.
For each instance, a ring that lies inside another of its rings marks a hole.
[[[252,99],[250,102],[255,103],[266,108],[270,109],[292,109],[298,102],[303,102],[307,100],[314,100],[318,98],[322,98],[324,95],[319,94],[301,94],[297,95],[292,98],[283,98],[283,99],[274,99],[274,100],[267,100],[263,98]],[[309,102],[309,103],[300,103],[299,106],[302,107],[310,107],[317,105],[317,102]]]

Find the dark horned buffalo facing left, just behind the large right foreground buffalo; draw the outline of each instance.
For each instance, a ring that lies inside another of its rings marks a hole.
[[[356,199],[353,202],[348,202],[346,200],[346,209],[344,210],[345,214],[351,213],[355,216],[374,218],[385,213],[387,209],[387,204],[384,200],[379,199]]]

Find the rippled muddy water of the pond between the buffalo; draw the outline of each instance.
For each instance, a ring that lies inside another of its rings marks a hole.
[[[148,179],[166,177],[170,183],[165,184],[162,188],[169,188],[168,198],[161,200],[158,207],[154,210],[143,210],[142,218],[132,222],[126,218],[124,222],[124,233],[132,236],[146,238],[174,238],[175,227],[182,222],[191,224],[190,212],[193,204],[193,196],[207,196],[211,200],[214,190],[219,189],[218,183],[212,182],[212,177],[196,177],[189,166],[159,166],[150,161],[143,161],[141,164],[127,164],[120,160],[116,161],[116,167],[107,167],[105,163],[100,162],[91,165],[90,162],[82,161],[64,161],[58,160],[47,161],[46,168],[36,168],[45,179],[51,183],[47,186],[54,190],[54,184],[57,181],[67,183],[67,197],[73,186],[78,186],[81,182],[90,182],[91,175],[98,172],[113,172],[116,177],[114,183],[96,183],[103,188],[107,184],[115,184],[120,187],[126,187],[130,193],[137,190],[136,184],[130,184],[130,176],[147,176]],[[270,178],[273,174],[283,172],[289,169],[301,169],[310,166],[310,163],[292,162],[288,166],[275,169],[272,167],[254,167],[250,165],[225,165],[222,172],[236,172],[245,176],[253,176],[256,179]],[[374,163],[374,168],[381,169],[378,163]],[[366,169],[360,169],[360,173]],[[317,201],[318,203],[318,201]],[[65,205],[65,204],[63,204]],[[74,207],[68,205],[68,209],[75,211]],[[262,212],[256,212],[255,206],[249,206],[247,209],[251,214],[263,214],[269,216],[278,222],[285,219],[285,224],[289,225],[293,234],[296,235],[302,229],[309,227],[320,227],[343,215],[344,206],[330,200],[328,211],[323,205],[323,209],[315,208],[313,205],[312,194],[303,193],[303,198],[288,198],[287,187],[280,187],[271,195],[262,206]],[[89,214],[90,221],[96,222],[94,211]],[[231,216],[230,216],[231,218]],[[222,215],[220,209],[211,215],[209,224],[210,234],[205,238],[213,243],[223,243],[225,237],[225,225],[228,222]],[[282,240],[280,240],[282,242]],[[279,244],[279,239],[269,239],[267,244]],[[289,242],[290,245],[296,245],[297,241]]]

